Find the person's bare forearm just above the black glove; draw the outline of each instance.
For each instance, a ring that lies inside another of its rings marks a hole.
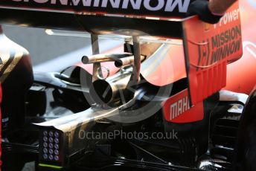
[[[223,16],[225,11],[228,10],[228,7],[235,1],[237,0],[210,0],[208,7],[209,10],[211,10],[211,13]]]

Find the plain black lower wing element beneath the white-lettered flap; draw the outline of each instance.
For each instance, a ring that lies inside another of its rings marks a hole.
[[[135,30],[134,34],[168,36],[173,38],[182,37],[182,22],[164,20],[144,20],[144,22],[141,22],[141,19],[115,16],[86,16],[73,13],[3,8],[0,8],[0,14],[0,22],[3,24],[22,25],[33,28],[77,30],[97,34],[125,33],[125,30]],[[130,33],[127,35],[130,35]]]

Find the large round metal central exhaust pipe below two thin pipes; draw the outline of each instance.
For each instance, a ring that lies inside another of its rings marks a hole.
[[[106,80],[96,80],[89,88],[89,94],[97,104],[127,103],[134,94],[128,88],[131,76],[132,67],[129,67]]]

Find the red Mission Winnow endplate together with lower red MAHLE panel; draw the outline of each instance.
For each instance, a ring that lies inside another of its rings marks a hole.
[[[172,123],[202,120],[203,100],[225,87],[227,64],[243,54],[238,1],[216,25],[193,16],[182,28],[188,89],[162,104],[165,120]]]

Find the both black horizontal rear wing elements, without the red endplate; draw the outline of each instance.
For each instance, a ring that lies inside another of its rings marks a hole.
[[[182,37],[191,0],[1,0],[0,22],[96,34]]]

